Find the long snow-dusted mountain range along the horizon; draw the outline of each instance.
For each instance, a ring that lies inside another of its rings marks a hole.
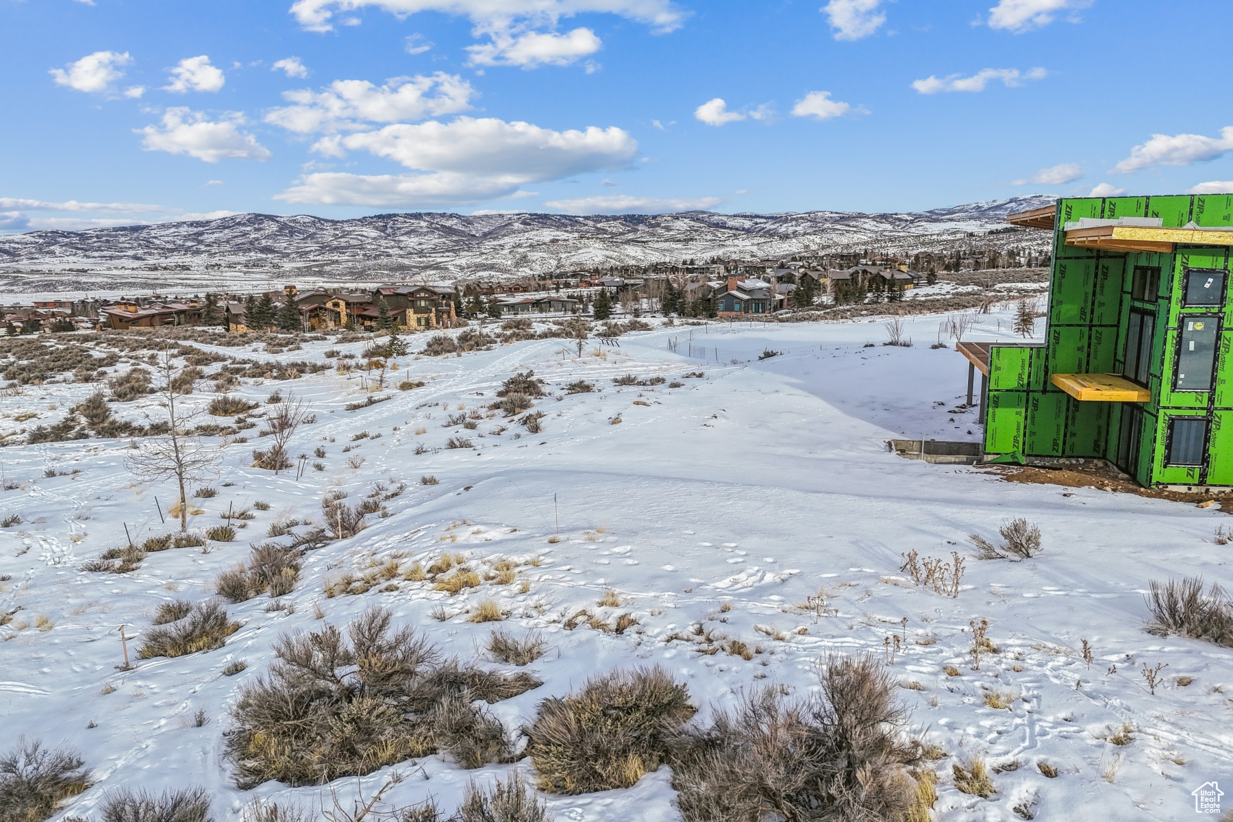
[[[47,287],[55,279],[49,275],[72,270],[76,282],[104,287],[117,282],[252,280],[263,276],[258,271],[285,277],[286,269],[300,270],[306,280],[330,281],[509,277],[597,265],[790,256],[810,250],[943,250],[972,243],[973,234],[1004,228],[1009,213],[1048,202],[1046,197],[1014,197],[885,214],[398,213],[358,219],[236,214],[0,237],[0,271],[9,275],[10,286],[38,274],[39,287]],[[981,244],[1034,248],[1044,246],[1047,237],[1014,232],[981,239]],[[106,276],[95,281],[90,275]]]

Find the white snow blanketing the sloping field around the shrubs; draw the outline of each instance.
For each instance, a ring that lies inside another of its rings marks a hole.
[[[619,349],[588,345],[581,359],[570,340],[551,339],[461,356],[412,355],[399,360],[393,382],[425,386],[382,392],[392,398],[354,412],[344,407],[363,398],[358,375],[245,380],[237,393],[247,398],[264,401],[279,388],[311,404],[317,421],[300,429],[291,451],[323,447],[324,471],[309,467],[298,481],[295,470],[274,476],[249,467],[256,436],[228,446],[210,483],[218,495],[195,500],[203,513],[190,518],[190,527],[219,524],[228,507],[264,502],[270,509],[254,510],[256,519],[234,542],[211,543],[208,553],[150,553],[127,574],[78,568],[125,545],[125,525],[138,543],[171,531],[154,502],[165,511],[171,483],[137,482],[125,468],[127,440],[5,447],[0,516],[17,514],[21,523],[0,530],[0,577],[11,577],[0,583],[0,614],[21,610],[0,627],[0,746],[27,735],[83,753],[96,784],[65,815],[96,815],[105,792],[118,786],[205,785],[219,821],[237,820],[254,795],[312,804],[321,789],[268,783],[237,790],[222,753],[228,706],[268,669],[274,641],[319,627],[314,609],[343,625],[380,604],[445,653],[482,658],[493,626],[470,622],[467,612],[494,599],[510,611],[502,626],[515,635],[541,631],[550,643],[526,668],[544,684],[492,706],[510,733],[531,722],[540,700],[614,668],[663,665],[688,685],[698,721],[705,721],[761,685],[809,693],[827,653],[885,659],[889,637],[898,636],[890,670],[904,685],[910,730],[948,754],[930,764],[941,779],[936,820],[1022,818],[1016,806],[1038,820],[1192,818],[1192,790],[1207,781],[1233,785],[1233,652],[1149,635],[1143,593],[1149,580],[1194,574],[1233,587],[1233,546],[1212,539],[1226,514],[1094,488],[1006,483],[979,468],[888,454],[891,436],[979,436],[973,412],[952,410],[964,401],[965,361],[928,348],[940,319],[906,322],[914,348],[883,346],[880,323],[832,323],[657,328],[620,338]],[[968,339],[1018,339],[1010,325],[1009,314],[990,314]],[[422,340],[412,338],[412,349]],[[714,354],[683,356],[690,345]],[[284,355],[218,351],[311,360],[329,348],[358,354],[364,344],[311,343]],[[784,354],[757,360],[767,348]],[[550,387],[536,401],[546,413],[540,434],[499,412],[487,418],[501,382],[528,368]],[[704,376],[683,378],[690,372]],[[683,387],[613,385],[628,373]],[[563,387],[577,380],[602,391],[566,396]],[[208,386],[200,385],[195,402],[212,398]],[[22,425],[54,421],[92,389],[26,387],[0,398],[7,418],[0,428],[17,428],[12,418],[26,413],[42,419]],[[132,419],[143,408],[158,413],[153,398],[116,405]],[[464,410],[482,414],[477,429],[443,425]],[[497,434],[502,425],[508,429]],[[369,436],[353,441],[361,431]],[[457,436],[473,447],[443,447]],[[414,454],[417,445],[427,451]],[[351,460],[359,467],[349,467],[351,457],[363,457]],[[439,484],[419,483],[429,474]],[[121,625],[138,637],[128,646],[136,658],[160,603],[212,596],[215,578],[243,561],[249,541],[264,539],[272,521],[319,521],[323,494],[342,489],[358,502],[376,482],[406,482],[407,490],[386,503],[388,516],[370,515],[359,535],[307,553],[300,584],[281,598],[293,609],[268,610],[265,595],[231,605],[243,626],[226,647],[116,668]],[[977,560],[968,535],[996,537],[1015,516],[1039,525],[1044,552],[1023,562]],[[550,541],[557,530],[560,539]],[[476,567],[507,557],[540,563],[518,568],[525,593],[490,582],[451,596],[427,582],[396,580],[393,590],[324,594],[326,580],[345,571],[365,571],[393,553],[428,564],[444,550]],[[947,561],[958,552],[965,560],[958,595],[919,587],[900,571],[911,551]],[[609,589],[620,608],[597,605]],[[834,610],[799,606],[820,592]],[[639,625],[620,635],[586,624],[567,630],[563,617],[584,608],[608,620],[631,612]],[[434,611],[449,616],[438,621]],[[41,627],[39,617],[48,620]],[[997,653],[973,669],[969,622],[980,620]],[[697,642],[665,641],[698,624],[757,653],[704,654]],[[237,661],[247,669],[223,675]],[[1168,668],[1153,695],[1139,672],[1158,663]],[[947,675],[948,665],[959,675]],[[1179,678],[1191,682],[1180,685]],[[986,706],[990,691],[1009,707]],[[199,710],[208,718],[200,727],[191,721]],[[1001,770],[988,800],[953,786],[951,765],[974,757]],[[1038,763],[1055,767],[1057,776],[1044,776]],[[462,770],[430,757],[335,787],[342,796],[371,795],[401,770],[408,778],[386,795],[392,805],[435,796],[449,811],[470,780],[487,783],[510,768],[529,770],[530,763]],[[552,796],[549,806],[570,822],[679,818],[667,769],[628,790]]]

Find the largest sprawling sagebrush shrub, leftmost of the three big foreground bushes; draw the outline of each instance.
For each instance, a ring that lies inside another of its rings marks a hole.
[[[441,662],[413,629],[391,622],[372,608],[345,637],[326,626],[279,638],[269,674],[232,707],[226,744],[238,786],[316,785],[438,751],[467,768],[508,757],[501,723],[473,702],[509,699],[539,680]]]

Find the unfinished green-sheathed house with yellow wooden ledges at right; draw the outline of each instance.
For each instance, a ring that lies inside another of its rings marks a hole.
[[[1105,458],[1143,486],[1233,486],[1233,196],[1084,197],[1053,232],[1043,345],[961,343],[986,461]]]

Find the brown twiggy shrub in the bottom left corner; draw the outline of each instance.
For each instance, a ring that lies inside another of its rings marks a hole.
[[[90,786],[90,774],[75,751],[49,751],[38,739],[18,737],[0,757],[0,822],[42,822],[60,804]]]

